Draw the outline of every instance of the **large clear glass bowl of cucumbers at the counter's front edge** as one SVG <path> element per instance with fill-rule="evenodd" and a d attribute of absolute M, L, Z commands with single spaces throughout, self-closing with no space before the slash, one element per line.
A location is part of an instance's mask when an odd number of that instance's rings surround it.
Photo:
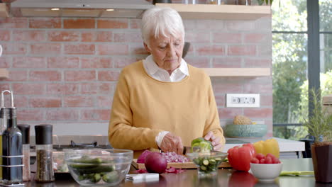
<path fill-rule="evenodd" d="M 127 149 L 77 149 L 65 151 L 72 178 L 82 186 L 116 186 L 128 174 L 133 151 Z"/>

